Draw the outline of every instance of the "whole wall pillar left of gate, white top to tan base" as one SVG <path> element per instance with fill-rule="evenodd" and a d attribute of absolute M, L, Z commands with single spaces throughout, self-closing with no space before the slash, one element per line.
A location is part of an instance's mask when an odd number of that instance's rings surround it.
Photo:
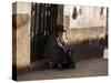
<path fill-rule="evenodd" d="M 16 9 L 17 8 L 17 9 Z M 30 14 L 31 14 L 31 3 L 29 2 L 17 2 L 13 3 L 12 8 L 13 18 L 13 32 L 17 45 L 17 66 L 22 68 L 30 64 Z M 14 11 L 16 10 L 16 11 Z"/>

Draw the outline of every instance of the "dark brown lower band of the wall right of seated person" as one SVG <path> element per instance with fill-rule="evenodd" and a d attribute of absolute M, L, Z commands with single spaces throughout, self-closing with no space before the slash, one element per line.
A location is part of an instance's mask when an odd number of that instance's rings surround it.
<path fill-rule="evenodd" d="M 75 60 L 84 60 L 92 58 L 103 58 L 104 49 L 108 48 L 108 38 L 83 40 L 77 43 L 70 43 L 74 50 Z"/>

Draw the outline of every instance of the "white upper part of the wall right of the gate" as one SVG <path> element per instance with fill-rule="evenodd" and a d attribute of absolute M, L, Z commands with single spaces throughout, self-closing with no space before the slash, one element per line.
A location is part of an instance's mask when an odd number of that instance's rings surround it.
<path fill-rule="evenodd" d="M 78 17 L 72 19 L 73 7 L 77 8 Z M 81 12 L 80 12 L 81 9 Z M 107 8 L 103 9 L 103 14 L 100 15 L 101 7 L 84 7 L 84 6 L 64 6 L 63 14 L 69 15 L 69 28 L 90 28 L 107 25 Z M 65 25 L 65 20 L 64 25 Z"/>

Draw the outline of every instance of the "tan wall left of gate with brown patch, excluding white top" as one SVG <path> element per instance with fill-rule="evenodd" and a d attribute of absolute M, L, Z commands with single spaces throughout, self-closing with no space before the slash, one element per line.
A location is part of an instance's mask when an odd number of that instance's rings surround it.
<path fill-rule="evenodd" d="M 17 45 L 17 66 L 26 66 L 30 64 L 30 31 L 29 31 L 29 14 L 17 13 L 17 29 L 13 27 L 16 33 L 14 43 Z"/>

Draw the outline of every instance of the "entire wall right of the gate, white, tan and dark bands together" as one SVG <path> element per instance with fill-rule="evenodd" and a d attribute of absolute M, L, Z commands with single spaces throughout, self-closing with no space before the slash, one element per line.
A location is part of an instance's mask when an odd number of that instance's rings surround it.
<path fill-rule="evenodd" d="M 75 19 L 72 18 L 77 8 Z M 107 8 L 85 6 L 64 6 L 64 40 L 71 45 L 77 60 L 103 56 L 108 34 Z"/>

